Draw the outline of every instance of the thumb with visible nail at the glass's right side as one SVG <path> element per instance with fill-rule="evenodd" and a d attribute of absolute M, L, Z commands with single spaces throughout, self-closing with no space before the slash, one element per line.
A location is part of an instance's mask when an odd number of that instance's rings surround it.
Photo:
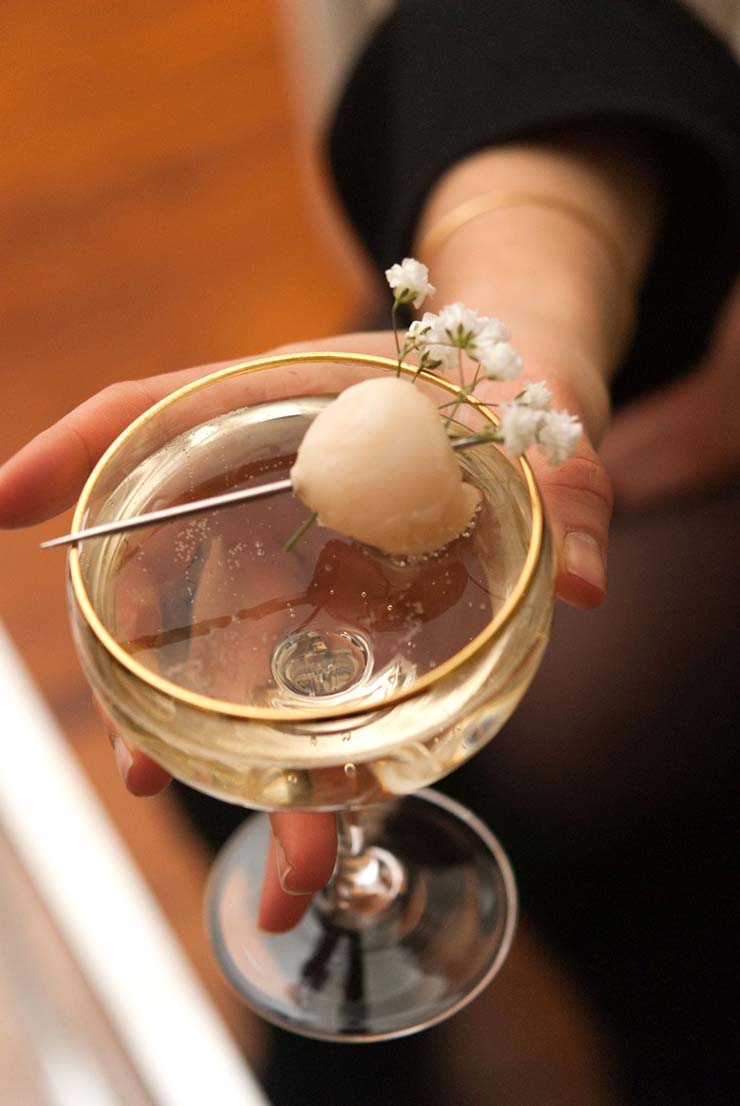
<path fill-rule="evenodd" d="M 584 437 L 567 461 L 552 468 L 531 459 L 555 553 L 555 594 L 575 607 L 596 607 L 606 594 L 612 484 Z"/>

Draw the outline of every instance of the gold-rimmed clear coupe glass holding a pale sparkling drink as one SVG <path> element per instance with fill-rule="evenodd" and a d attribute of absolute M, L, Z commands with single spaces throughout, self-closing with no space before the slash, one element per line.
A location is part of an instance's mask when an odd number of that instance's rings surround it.
<path fill-rule="evenodd" d="M 338 392 L 396 371 L 381 357 L 312 353 L 196 380 L 111 446 L 74 526 L 284 478 Z M 450 406 L 457 389 L 434 375 L 413 386 L 435 398 L 451 436 L 496 419 L 472 397 Z M 227 844 L 208 894 L 227 978 L 264 1018 L 309 1036 L 425 1029 L 489 982 L 512 940 L 515 887 L 496 838 L 449 799 L 413 794 L 501 728 L 552 613 L 527 462 L 492 444 L 458 456 L 482 505 L 429 556 L 388 556 L 317 524 L 285 552 L 308 514 L 290 494 L 70 553 L 80 657 L 127 741 L 228 802 L 337 812 L 334 876 L 290 932 L 257 926 L 264 814 Z"/>

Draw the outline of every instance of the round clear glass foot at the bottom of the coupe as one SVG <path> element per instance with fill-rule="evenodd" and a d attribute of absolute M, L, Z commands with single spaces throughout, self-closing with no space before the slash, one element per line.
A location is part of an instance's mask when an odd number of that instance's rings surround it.
<path fill-rule="evenodd" d="M 330 885 L 290 932 L 258 930 L 267 815 L 248 818 L 211 876 L 208 926 L 227 979 L 261 1016 L 304 1036 L 369 1042 L 427 1029 L 486 987 L 513 937 L 511 867 L 463 806 L 424 791 L 362 818 L 393 886 L 379 910 L 347 907 Z"/>

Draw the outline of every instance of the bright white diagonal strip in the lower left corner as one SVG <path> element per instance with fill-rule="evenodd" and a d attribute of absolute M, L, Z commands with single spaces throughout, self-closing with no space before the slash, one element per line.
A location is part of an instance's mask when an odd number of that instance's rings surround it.
<path fill-rule="evenodd" d="M 0 818 L 154 1102 L 268 1106 L 1 625 L 0 703 Z"/>

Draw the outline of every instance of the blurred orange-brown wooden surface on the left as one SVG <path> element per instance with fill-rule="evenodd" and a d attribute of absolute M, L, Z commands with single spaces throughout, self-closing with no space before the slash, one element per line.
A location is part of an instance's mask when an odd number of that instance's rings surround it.
<path fill-rule="evenodd" d="M 271 0 L 6 0 L 0 33 L 3 458 L 114 380 L 354 325 L 303 186 Z M 0 536 L 0 617 L 257 1057 L 205 946 L 207 859 L 166 796 L 126 794 L 91 710 L 64 554 L 38 549 L 67 522 Z"/>

